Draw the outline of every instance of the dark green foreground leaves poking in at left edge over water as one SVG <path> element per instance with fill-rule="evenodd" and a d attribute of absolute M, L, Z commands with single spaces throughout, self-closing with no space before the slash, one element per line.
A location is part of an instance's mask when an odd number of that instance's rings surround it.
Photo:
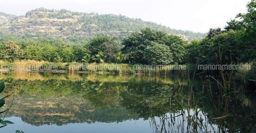
<path fill-rule="evenodd" d="M 0 94 L 3 92 L 4 90 L 4 82 L 0 82 Z M 5 104 L 5 100 L 4 98 L 7 98 L 9 97 L 10 95 L 8 96 L 5 96 L 3 98 L 0 99 L 0 108 L 3 107 L 3 105 Z M 0 114 L 3 114 L 4 112 L 8 111 L 9 109 L 7 110 L 4 110 L 4 111 L 0 111 Z M 7 126 L 7 124 L 14 124 L 13 122 L 10 122 L 10 121 L 4 121 L 4 119 L 0 118 L 0 128 L 3 128 L 5 126 Z"/>

